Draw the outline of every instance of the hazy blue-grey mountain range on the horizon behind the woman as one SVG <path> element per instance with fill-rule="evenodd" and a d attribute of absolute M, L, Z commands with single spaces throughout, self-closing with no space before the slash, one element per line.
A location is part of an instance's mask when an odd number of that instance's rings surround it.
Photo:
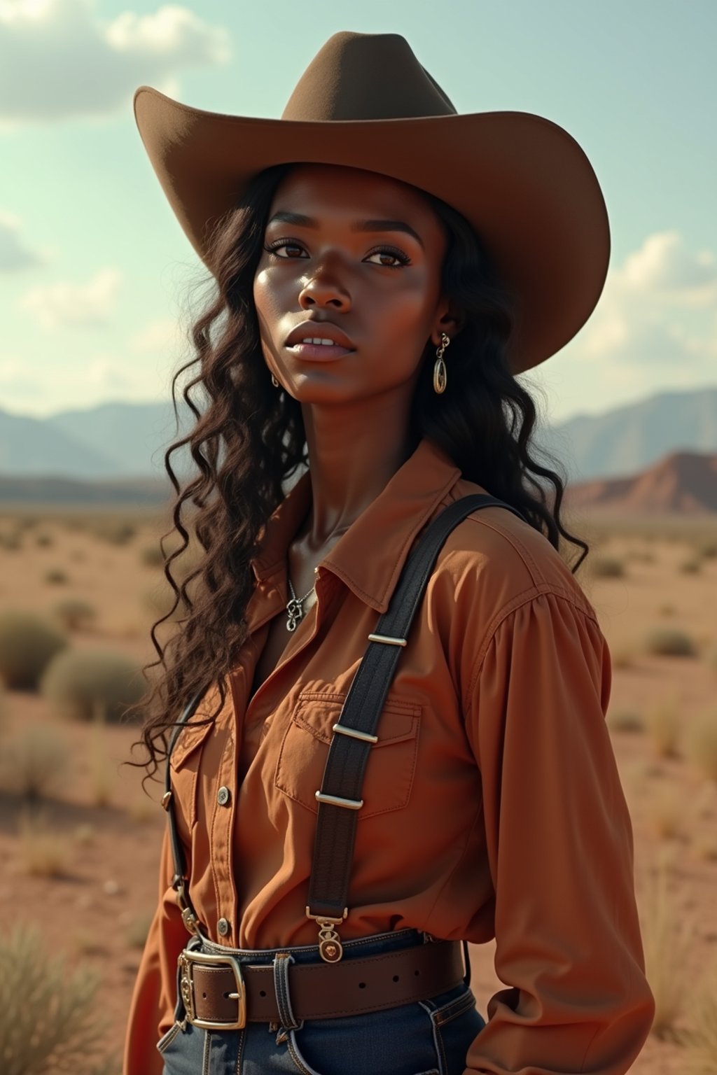
<path fill-rule="evenodd" d="M 190 427 L 186 411 L 181 421 Z M 104 403 L 42 419 L 0 411 L 0 475 L 163 481 L 174 430 L 171 403 Z M 717 453 L 717 387 L 576 415 L 540 428 L 535 443 L 558 458 L 571 483 L 629 477 L 674 453 Z M 177 456 L 181 471 L 188 456 Z"/>

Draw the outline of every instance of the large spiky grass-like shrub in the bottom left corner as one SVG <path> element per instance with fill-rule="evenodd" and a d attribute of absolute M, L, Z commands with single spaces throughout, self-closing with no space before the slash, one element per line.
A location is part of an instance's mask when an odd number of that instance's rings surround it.
<path fill-rule="evenodd" d="M 95 1007 L 96 973 L 69 971 L 37 927 L 8 921 L 0 933 L 2 1075 L 114 1075 L 107 1020 Z"/>

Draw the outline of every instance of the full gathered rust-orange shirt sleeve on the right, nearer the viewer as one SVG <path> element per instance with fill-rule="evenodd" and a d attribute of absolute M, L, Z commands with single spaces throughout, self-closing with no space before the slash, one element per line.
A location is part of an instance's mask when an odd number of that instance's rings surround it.
<path fill-rule="evenodd" d="M 545 592 L 513 608 L 472 659 L 467 730 L 507 988 L 488 1001 L 465 1075 L 625 1075 L 655 1001 L 604 720 L 607 643 L 570 598 Z"/>

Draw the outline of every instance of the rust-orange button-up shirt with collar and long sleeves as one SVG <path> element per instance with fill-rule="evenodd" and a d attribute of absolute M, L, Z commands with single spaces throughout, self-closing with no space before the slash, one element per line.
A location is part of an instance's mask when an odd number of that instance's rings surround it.
<path fill-rule="evenodd" d="M 213 726 L 181 733 L 171 762 L 190 897 L 218 944 L 316 944 L 304 908 L 331 727 L 416 538 L 451 501 L 485 491 L 424 439 L 324 558 L 316 602 L 249 698 L 269 621 L 286 615 L 286 553 L 311 504 L 309 473 L 268 520 L 227 702 Z M 478 999 L 488 1022 L 469 1075 L 622 1075 L 647 1037 L 654 998 L 610 691 L 596 613 L 546 538 L 498 506 L 461 521 L 381 716 L 341 934 L 496 938 L 505 989 Z M 189 936 L 172 874 L 166 836 L 125 1075 L 161 1075 L 155 1043 L 173 1021 Z"/>

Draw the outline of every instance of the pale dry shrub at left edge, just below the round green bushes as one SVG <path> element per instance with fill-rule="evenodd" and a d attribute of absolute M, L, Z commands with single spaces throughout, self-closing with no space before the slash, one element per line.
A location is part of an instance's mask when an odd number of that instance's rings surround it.
<path fill-rule="evenodd" d="M 53 728 L 21 728 L 3 743 L 0 785 L 25 799 L 60 790 L 70 770 L 70 749 Z"/>

